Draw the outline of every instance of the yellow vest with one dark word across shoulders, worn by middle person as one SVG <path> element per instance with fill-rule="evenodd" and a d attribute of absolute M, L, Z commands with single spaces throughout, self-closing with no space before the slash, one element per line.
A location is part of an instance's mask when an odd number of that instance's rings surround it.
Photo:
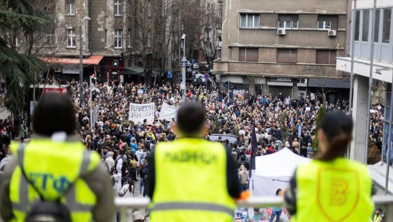
<path fill-rule="evenodd" d="M 151 221 L 232 222 L 235 201 L 227 189 L 222 144 L 198 138 L 159 143 Z"/>

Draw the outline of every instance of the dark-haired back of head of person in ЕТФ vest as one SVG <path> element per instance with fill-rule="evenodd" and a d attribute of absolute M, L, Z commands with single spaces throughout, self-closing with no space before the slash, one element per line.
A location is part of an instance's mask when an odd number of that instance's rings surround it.
<path fill-rule="evenodd" d="M 71 135 L 76 129 L 75 108 L 66 94 L 44 93 L 33 112 L 33 130 L 38 135 L 55 132 Z"/>

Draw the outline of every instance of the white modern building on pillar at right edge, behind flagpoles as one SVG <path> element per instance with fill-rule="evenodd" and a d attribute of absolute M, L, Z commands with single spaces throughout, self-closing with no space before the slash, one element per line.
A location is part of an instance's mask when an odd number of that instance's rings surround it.
<path fill-rule="evenodd" d="M 384 125 L 382 142 L 382 161 L 387 160 L 388 125 L 391 117 L 390 95 L 393 77 L 393 2 L 389 0 L 378 0 L 373 13 L 372 0 L 357 0 L 356 13 L 353 13 L 354 2 L 352 2 L 352 21 L 355 21 L 354 32 L 351 31 L 351 50 L 354 47 L 354 94 L 353 94 L 353 117 L 355 118 L 355 139 L 351 144 L 351 157 L 362 161 L 365 156 L 364 138 L 367 137 L 366 122 L 368 85 L 370 71 L 373 86 L 384 85 L 385 96 L 381 96 L 378 90 L 372 91 L 372 101 L 380 100 L 384 104 Z M 374 21 L 374 24 L 373 24 Z M 353 25 L 353 23 L 352 23 Z M 351 25 L 351 30 L 352 29 Z M 372 36 L 374 34 L 374 36 Z M 374 37 L 374 40 L 372 40 Z M 373 46 L 373 64 L 371 67 L 371 46 Z M 352 56 L 352 54 L 351 54 Z M 351 73 L 351 57 L 337 58 L 337 70 Z M 372 70 L 370 70 L 372 68 Z M 380 88 L 380 87 L 379 87 Z M 375 89 L 378 89 L 375 87 Z M 374 107 L 371 107 L 374 108 Z M 355 149 L 356 147 L 356 149 Z M 390 165 L 393 162 L 393 152 L 390 152 Z M 376 176 L 375 176 L 376 177 Z M 378 181 L 378 178 L 373 178 Z M 379 180 L 380 181 L 380 180 Z M 384 182 L 384 179 L 382 179 Z M 382 187 L 384 184 L 380 184 Z M 389 187 L 389 192 L 393 188 Z"/>

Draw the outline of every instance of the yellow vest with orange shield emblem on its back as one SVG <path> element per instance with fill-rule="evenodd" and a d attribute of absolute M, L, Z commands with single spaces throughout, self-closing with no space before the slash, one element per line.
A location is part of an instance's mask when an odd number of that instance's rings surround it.
<path fill-rule="evenodd" d="M 372 181 L 358 162 L 312 160 L 296 171 L 296 215 L 292 221 L 369 221 Z"/>

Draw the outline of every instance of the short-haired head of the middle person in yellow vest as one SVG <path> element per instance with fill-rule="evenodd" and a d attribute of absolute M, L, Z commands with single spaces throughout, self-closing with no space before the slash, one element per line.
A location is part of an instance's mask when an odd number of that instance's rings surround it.
<path fill-rule="evenodd" d="M 176 133 L 182 137 L 203 137 L 206 134 L 206 113 L 201 104 L 186 102 L 177 111 Z"/>

